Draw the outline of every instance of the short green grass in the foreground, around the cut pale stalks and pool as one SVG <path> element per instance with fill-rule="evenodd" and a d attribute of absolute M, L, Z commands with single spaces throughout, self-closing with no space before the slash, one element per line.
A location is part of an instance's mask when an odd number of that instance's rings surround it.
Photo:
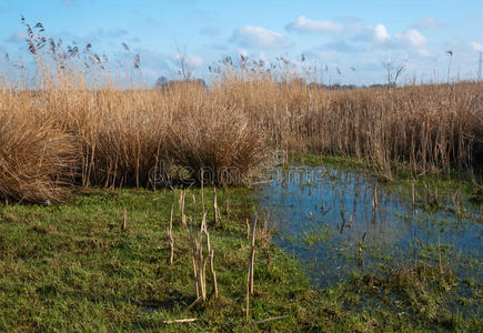
<path fill-rule="evenodd" d="M 207 189 L 207 206 L 212 202 L 211 193 Z M 198 212 L 201 210 L 200 190 L 189 191 L 189 221 L 191 194 L 197 195 Z M 462 283 L 452 278 L 451 271 L 440 274 L 449 276 L 449 287 L 433 283 L 430 278 L 439 275 L 426 266 L 424 272 L 404 269 L 404 279 L 399 271 L 386 271 L 354 275 L 349 282 L 316 290 L 298 261 L 266 240 L 256 242 L 255 293 L 246 322 L 250 245 L 245 219 L 254 205 L 250 190 L 219 191 L 222 222 L 213 225 L 210 210 L 208 229 L 215 250 L 220 297 L 188 310 L 195 292 L 189 233 L 180 224 L 178 195 L 179 191 L 85 190 L 66 204 L 0 205 L 0 331 L 378 332 L 481 327 L 477 315 L 463 319 L 450 311 L 445 297 L 455 290 L 454 284 Z M 224 212 L 228 195 L 229 218 Z M 174 263 L 169 265 L 164 228 L 172 203 Z M 124 208 L 128 223 L 127 231 L 121 232 Z M 466 284 L 472 285 L 473 293 L 462 302 L 481 306 L 481 285 L 475 281 Z M 289 317 L 256 323 L 280 315 Z M 185 317 L 200 320 L 163 324 Z"/>

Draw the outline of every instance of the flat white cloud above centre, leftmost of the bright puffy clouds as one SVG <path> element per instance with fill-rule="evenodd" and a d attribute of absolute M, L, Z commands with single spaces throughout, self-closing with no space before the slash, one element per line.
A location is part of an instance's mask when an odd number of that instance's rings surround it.
<path fill-rule="evenodd" d="M 237 29 L 233 31 L 230 41 L 243 48 L 283 49 L 292 46 L 292 42 L 285 36 L 253 26 Z"/>

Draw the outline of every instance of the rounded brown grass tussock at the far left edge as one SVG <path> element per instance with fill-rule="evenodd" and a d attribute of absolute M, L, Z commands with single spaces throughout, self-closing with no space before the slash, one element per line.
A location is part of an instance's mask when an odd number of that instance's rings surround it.
<path fill-rule="evenodd" d="M 21 99 L 11 95 L 16 103 Z M 29 110 L 8 109 L 4 94 L 0 100 L 0 198 L 61 200 L 78 167 L 74 138 Z"/>

